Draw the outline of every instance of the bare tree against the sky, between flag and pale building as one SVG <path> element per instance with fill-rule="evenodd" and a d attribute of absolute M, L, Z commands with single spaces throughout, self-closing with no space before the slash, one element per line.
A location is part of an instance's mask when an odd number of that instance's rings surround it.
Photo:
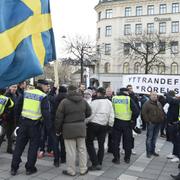
<path fill-rule="evenodd" d="M 75 38 L 66 40 L 66 51 L 69 55 L 67 61 L 64 63 L 70 63 L 74 65 L 80 65 L 81 67 L 81 83 L 84 83 L 83 72 L 84 66 L 90 66 L 92 56 L 94 54 L 95 46 L 89 38 L 82 36 L 76 36 Z"/>

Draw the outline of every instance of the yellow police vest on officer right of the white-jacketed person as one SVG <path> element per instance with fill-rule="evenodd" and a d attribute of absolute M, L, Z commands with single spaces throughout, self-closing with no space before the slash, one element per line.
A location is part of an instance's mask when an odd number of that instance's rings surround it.
<path fill-rule="evenodd" d="M 132 111 L 130 108 L 130 97 L 129 96 L 114 96 L 112 98 L 112 104 L 115 112 L 115 118 L 130 121 L 132 116 Z"/>

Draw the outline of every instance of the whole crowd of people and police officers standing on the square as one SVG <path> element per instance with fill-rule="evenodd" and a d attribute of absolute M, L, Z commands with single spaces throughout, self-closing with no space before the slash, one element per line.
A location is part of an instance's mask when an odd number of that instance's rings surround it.
<path fill-rule="evenodd" d="M 45 155 L 54 157 L 55 167 L 66 163 L 63 174 L 68 176 L 77 173 L 77 157 L 80 175 L 101 170 L 106 137 L 112 163 L 120 164 L 120 147 L 124 161 L 130 163 L 135 153 L 133 134 L 145 130 L 147 158 L 159 156 L 156 141 L 160 132 L 162 138 L 172 142 L 167 158 L 172 162 L 180 159 L 180 98 L 174 91 L 159 96 L 156 92 L 135 94 L 131 85 L 114 93 L 111 87 L 85 89 L 84 84 L 57 89 L 44 79 L 35 87 L 21 82 L 0 89 L 0 125 L 0 146 L 7 141 L 7 153 L 13 155 L 11 175 L 17 174 L 28 143 L 27 175 L 37 172 L 37 158 Z M 171 176 L 180 180 L 180 174 Z"/>

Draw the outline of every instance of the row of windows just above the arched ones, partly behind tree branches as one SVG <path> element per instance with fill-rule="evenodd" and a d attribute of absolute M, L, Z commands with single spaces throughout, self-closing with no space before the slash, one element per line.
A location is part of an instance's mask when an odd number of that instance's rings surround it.
<path fill-rule="evenodd" d="M 166 53 L 166 42 L 160 42 L 159 43 L 159 54 L 165 54 Z M 147 43 L 148 51 L 149 53 L 153 53 L 153 48 L 154 44 L 152 42 Z M 135 43 L 135 48 L 140 49 L 142 48 L 141 43 Z M 157 47 L 156 47 L 157 48 Z M 100 46 L 97 45 L 97 53 L 100 51 Z M 124 55 L 128 55 L 131 53 L 131 45 L 129 43 L 124 43 Z M 178 41 L 171 41 L 170 42 L 170 51 L 171 54 L 178 54 L 179 53 L 179 42 Z M 136 52 L 135 52 L 136 53 Z M 105 50 L 104 50 L 105 55 L 111 55 L 111 43 L 106 43 L 105 44 Z"/>

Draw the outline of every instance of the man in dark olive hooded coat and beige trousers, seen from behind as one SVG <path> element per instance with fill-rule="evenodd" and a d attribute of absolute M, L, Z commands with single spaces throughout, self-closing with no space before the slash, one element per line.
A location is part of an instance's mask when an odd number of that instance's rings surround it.
<path fill-rule="evenodd" d="M 63 174 L 76 175 L 76 149 L 80 159 L 80 174 L 84 175 L 87 169 L 87 151 L 85 144 L 85 118 L 91 115 L 91 108 L 77 92 L 75 86 L 69 86 L 68 96 L 59 105 L 56 112 L 55 128 L 57 135 L 63 134 L 66 148 L 67 170 Z"/>

